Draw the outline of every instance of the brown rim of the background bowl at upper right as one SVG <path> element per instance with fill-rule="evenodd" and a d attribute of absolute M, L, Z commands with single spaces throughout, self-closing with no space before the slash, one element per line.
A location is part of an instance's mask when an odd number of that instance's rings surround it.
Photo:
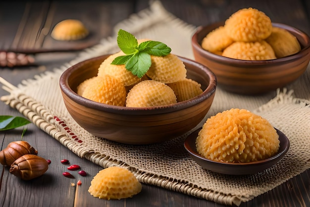
<path fill-rule="evenodd" d="M 216 55 L 214 53 L 208 52 L 207 50 L 203 49 L 201 46 L 201 43 L 198 41 L 198 35 L 199 33 L 205 29 L 206 27 L 210 27 L 214 29 L 218 26 L 223 26 L 225 21 L 220 21 L 220 22 L 215 22 L 212 24 L 204 25 L 204 26 L 199 26 L 194 34 L 192 35 L 192 46 L 193 49 L 197 50 L 200 54 L 205 54 L 205 56 L 208 56 L 211 58 L 213 61 L 218 62 L 218 63 L 224 63 L 227 65 L 252 65 L 252 66 L 263 66 L 263 65 L 270 65 L 270 64 L 283 64 L 284 62 L 289 62 L 294 59 L 299 59 L 301 57 L 304 57 L 305 55 L 310 54 L 310 37 L 309 35 L 302 31 L 299 30 L 293 26 L 289 26 L 287 24 L 283 23 L 277 23 L 277 22 L 272 22 L 272 26 L 274 27 L 280 27 L 283 29 L 286 29 L 288 31 L 293 31 L 294 33 L 298 33 L 300 36 L 303 37 L 303 39 L 306 40 L 306 45 L 299 51 L 298 53 L 292 54 L 290 56 L 286 56 L 283 58 L 277 58 L 277 59 L 272 59 L 272 60 L 264 60 L 264 61 L 249 61 L 249 60 L 238 60 L 238 59 L 233 59 L 233 58 L 228 58 L 220 55 Z"/>

